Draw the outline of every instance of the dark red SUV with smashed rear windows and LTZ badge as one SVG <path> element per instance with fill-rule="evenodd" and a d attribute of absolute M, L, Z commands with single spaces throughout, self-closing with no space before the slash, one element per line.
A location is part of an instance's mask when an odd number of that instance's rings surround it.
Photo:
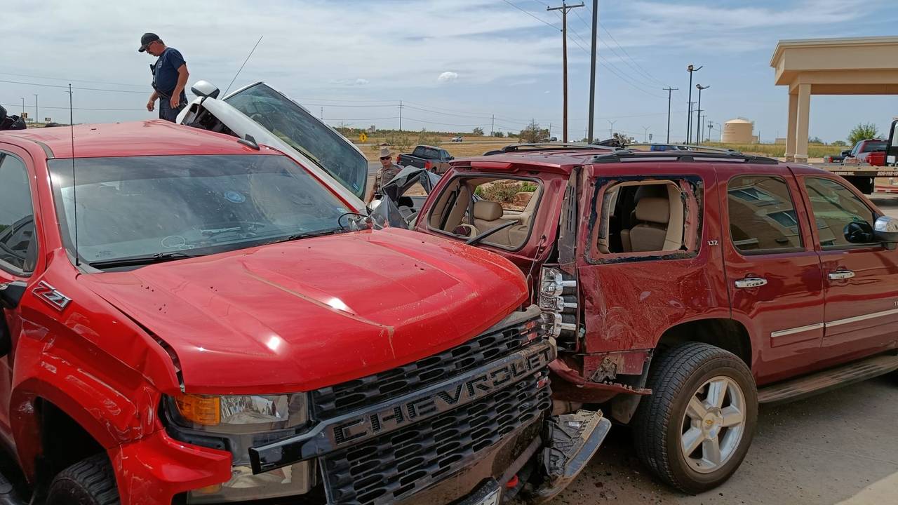
<path fill-rule="evenodd" d="M 684 492 L 735 472 L 759 403 L 898 369 L 898 220 L 823 170 L 509 146 L 453 162 L 416 223 L 527 274 L 555 399 L 605 404 Z"/>

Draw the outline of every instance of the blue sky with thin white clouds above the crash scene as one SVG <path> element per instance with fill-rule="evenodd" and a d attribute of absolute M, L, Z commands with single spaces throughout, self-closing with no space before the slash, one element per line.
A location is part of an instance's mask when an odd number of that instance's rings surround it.
<path fill-rule="evenodd" d="M 592 1 L 568 14 L 569 137 L 585 137 Z M 562 64 L 554 0 L 3 0 L 0 103 L 68 122 L 145 120 L 153 31 L 187 60 L 193 83 L 231 89 L 265 81 L 334 126 L 517 131 L 531 120 L 561 137 Z M 719 124 L 745 118 L 762 141 L 785 137 L 788 95 L 773 84 L 778 40 L 894 35 L 888 0 L 599 2 L 595 137 L 611 128 L 685 137 L 689 74 Z M 12 29 L 14 27 L 14 29 Z M 695 90 L 693 89 L 693 92 Z M 38 96 L 35 97 L 34 95 Z M 697 99 L 693 93 L 692 100 Z M 495 120 L 493 120 L 495 116 Z M 860 122 L 885 131 L 896 96 L 813 96 L 810 136 L 848 137 Z M 613 121 L 613 125 L 612 125 Z M 495 124 L 495 127 L 494 127 Z M 694 127 L 693 127 L 694 128 Z M 704 128 L 707 135 L 708 128 Z M 694 133 L 693 133 L 694 136 Z"/>

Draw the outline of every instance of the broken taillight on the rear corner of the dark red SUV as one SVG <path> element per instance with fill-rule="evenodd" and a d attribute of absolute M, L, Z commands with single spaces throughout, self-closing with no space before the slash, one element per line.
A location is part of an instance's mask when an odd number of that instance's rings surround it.
<path fill-rule="evenodd" d="M 554 267 L 543 267 L 540 308 L 550 335 L 556 339 L 577 337 L 577 279 L 574 276 Z"/>

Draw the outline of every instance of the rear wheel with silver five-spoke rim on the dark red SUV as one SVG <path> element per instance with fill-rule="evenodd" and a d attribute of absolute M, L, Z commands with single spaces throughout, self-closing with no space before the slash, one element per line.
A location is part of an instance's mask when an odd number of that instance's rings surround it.
<path fill-rule="evenodd" d="M 758 391 L 742 359 L 687 342 L 656 357 L 633 423 L 639 460 L 682 492 L 708 491 L 734 474 L 752 444 Z"/>

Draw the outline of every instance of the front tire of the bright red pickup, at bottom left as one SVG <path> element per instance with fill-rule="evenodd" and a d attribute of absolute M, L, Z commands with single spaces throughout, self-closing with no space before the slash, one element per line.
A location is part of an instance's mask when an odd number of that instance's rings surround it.
<path fill-rule="evenodd" d="M 50 483 L 45 505 L 119 505 L 119 487 L 105 454 L 88 457 Z"/>

